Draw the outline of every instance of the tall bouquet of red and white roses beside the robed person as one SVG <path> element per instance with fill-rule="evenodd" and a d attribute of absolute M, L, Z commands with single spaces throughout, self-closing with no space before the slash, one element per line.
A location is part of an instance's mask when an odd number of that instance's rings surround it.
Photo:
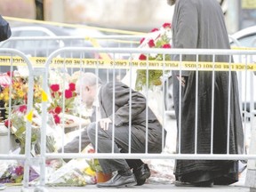
<path fill-rule="evenodd" d="M 153 28 L 147 37 L 140 40 L 140 48 L 163 48 L 170 49 L 172 38 L 172 25 L 171 23 L 164 23 L 161 28 Z M 139 60 L 171 60 L 171 56 L 160 53 L 140 54 Z M 148 87 L 151 88 L 154 85 L 161 85 L 163 76 L 163 70 L 148 70 Z M 142 90 L 142 87 L 147 84 L 147 70 L 139 69 L 137 71 L 137 79 L 135 89 Z"/>

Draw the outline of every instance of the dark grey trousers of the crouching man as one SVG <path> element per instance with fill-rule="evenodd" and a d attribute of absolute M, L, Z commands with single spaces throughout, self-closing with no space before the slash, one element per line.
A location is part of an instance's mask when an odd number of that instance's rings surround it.
<path fill-rule="evenodd" d="M 98 130 L 98 142 L 96 145 L 96 130 Z M 113 130 L 115 140 L 113 142 Z M 109 124 L 108 131 L 96 126 L 96 123 L 89 124 L 87 127 L 88 136 L 92 142 L 92 146 L 97 146 L 99 153 L 128 153 L 129 152 L 129 127 L 120 126 L 113 129 L 112 124 Z M 145 146 L 140 142 L 136 135 L 131 132 L 131 152 L 144 152 Z M 127 170 L 130 168 L 137 169 L 143 162 L 140 159 L 99 159 L 103 172 L 116 172 L 119 170 Z"/>

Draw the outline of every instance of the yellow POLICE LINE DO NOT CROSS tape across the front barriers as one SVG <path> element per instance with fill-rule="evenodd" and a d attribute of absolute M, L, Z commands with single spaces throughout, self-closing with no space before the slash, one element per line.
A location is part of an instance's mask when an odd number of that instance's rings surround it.
<path fill-rule="evenodd" d="M 44 68 L 46 58 L 28 58 L 33 67 Z M 0 66 L 27 66 L 20 57 L 0 56 Z M 252 63 L 227 63 L 227 62 L 195 62 L 172 60 L 102 60 L 80 58 L 53 58 L 50 68 L 139 68 L 160 70 L 204 70 L 204 71 L 256 71 L 256 62 Z"/>

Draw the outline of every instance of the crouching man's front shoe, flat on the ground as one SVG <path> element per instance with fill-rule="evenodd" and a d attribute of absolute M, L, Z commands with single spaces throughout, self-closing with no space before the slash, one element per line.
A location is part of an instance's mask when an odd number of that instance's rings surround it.
<path fill-rule="evenodd" d="M 132 185 L 136 185 L 137 182 L 132 175 L 126 176 L 116 173 L 114 177 L 111 178 L 111 180 L 108 180 L 107 182 L 97 183 L 98 188 L 121 188 L 121 187 L 129 187 Z"/>

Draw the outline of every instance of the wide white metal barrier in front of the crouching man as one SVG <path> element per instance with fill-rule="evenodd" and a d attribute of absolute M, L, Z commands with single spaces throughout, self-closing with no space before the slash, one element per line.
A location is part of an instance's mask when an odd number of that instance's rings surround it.
<path fill-rule="evenodd" d="M 70 54 L 70 52 L 72 53 L 76 53 L 76 55 L 78 54 L 79 57 L 77 58 L 69 58 L 68 55 Z M 91 59 L 91 58 L 86 58 L 84 57 L 84 52 L 85 53 L 107 53 L 107 54 L 111 54 L 112 55 L 112 59 L 109 60 L 102 60 L 100 57 L 96 58 L 96 59 Z M 65 57 L 65 54 L 67 53 L 67 57 Z M 128 60 L 120 60 L 119 59 L 119 54 L 128 54 L 129 55 L 129 59 Z M 136 58 L 138 58 L 138 56 L 140 54 L 162 54 L 164 55 L 163 58 L 164 60 L 159 61 L 159 60 L 136 60 Z M 172 61 L 172 60 L 167 60 L 168 56 L 170 55 L 180 55 L 182 56 L 183 54 L 186 55 L 196 55 L 196 58 L 198 58 L 199 55 L 212 55 L 212 57 L 214 58 L 216 55 L 228 55 L 229 58 L 233 57 L 238 57 L 239 60 L 235 60 L 235 63 L 232 63 L 231 60 L 229 63 L 218 63 L 215 62 L 214 59 L 211 63 L 200 63 L 198 61 L 196 62 L 183 62 L 182 60 L 178 60 L 178 61 Z M 61 55 L 61 57 L 60 57 Z M 165 72 L 169 72 L 170 70 L 180 70 L 180 71 L 186 71 L 186 70 L 194 70 L 196 72 L 200 71 L 200 70 L 206 70 L 206 71 L 212 71 L 214 74 L 214 71 L 240 71 L 241 73 L 245 73 L 245 76 L 249 76 L 249 74 L 252 74 L 252 71 L 255 71 L 256 65 L 255 65 L 255 55 L 256 52 L 255 51 L 234 51 L 234 50 L 187 50 L 187 49 L 183 49 L 183 50 L 176 50 L 176 49 L 122 49 L 122 48 L 81 48 L 81 47 L 67 47 L 67 48 L 62 48 L 60 50 L 57 50 L 55 52 L 52 52 L 52 54 L 47 58 L 44 67 L 40 68 L 41 70 L 41 74 L 43 75 L 43 90 L 44 92 L 46 92 L 48 95 L 51 95 L 50 92 L 50 88 L 49 85 L 52 84 L 52 82 L 54 83 L 54 81 L 52 81 L 52 71 L 54 71 L 54 74 L 57 73 L 61 73 L 63 71 L 66 71 L 65 74 L 60 77 L 58 77 L 58 84 L 62 84 L 63 86 L 66 84 L 68 84 L 68 77 L 67 76 L 71 76 L 72 74 L 66 74 L 67 70 L 62 70 L 63 68 L 78 68 L 78 74 L 76 74 L 76 80 L 80 78 L 79 73 L 83 73 L 86 72 L 86 70 L 88 68 L 93 68 L 94 72 L 96 75 L 99 75 L 99 70 L 100 69 L 111 69 L 113 74 L 115 75 L 115 71 L 116 69 L 124 69 L 128 78 L 126 79 L 127 81 L 125 82 L 126 84 L 128 84 L 130 87 L 133 88 L 133 80 L 132 78 L 130 78 L 129 76 L 134 76 L 134 71 L 136 72 L 136 70 L 138 69 L 143 69 L 146 70 L 146 76 L 147 76 L 147 80 L 146 80 L 146 84 L 148 84 L 148 70 L 149 69 L 153 69 L 153 70 L 161 70 L 164 74 Z M 166 60 L 165 60 L 166 58 Z M 180 57 L 181 58 L 181 57 Z M 251 76 L 251 80 L 253 79 L 253 76 Z M 53 76 L 53 80 L 57 80 L 54 79 Z M 73 79 L 74 80 L 74 79 Z M 113 82 L 118 81 L 119 79 L 116 79 L 116 76 L 112 77 Z M 241 79 L 240 79 L 241 81 Z M 56 82 L 55 82 L 56 83 Z M 241 114 L 244 114 L 243 117 L 243 126 L 244 126 L 244 140 L 248 140 L 248 138 L 250 139 L 250 136 L 247 136 L 247 132 L 250 132 L 250 129 L 252 127 L 252 121 L 250 121 L 250 118 L 252 118 L 252 116 L 255 116 L 255 107 L 254 107 L 254 102 L 256 100 L 253 100 L 253 93 L 254 93 L 254 82 L 251 82 L 252 84 L 250 84 L 250 95 L 247 95 L 247 91 L 243 91 L 242 93 L 245 94 L 245 98 L 249 97 L 249 110 L 246 110 L 246 108 L 243 108 L 244 103 L 241 103 Z M 241 82 L 239 82 L 239 84 L 241 84 Z M 240 85 L 244 87 L 245 89 L 247 86 L 248 82 L 247 80 L 245 80 L 245 84 Z M 165 92 L 168 89 L 168 86 L 162 84 L 161 86 L 161 91 Z M 181 86 L 181 84 L 180 84 Z M 147 87 L 147 86 L 146 86 Z M 63 88 L 63 87 L 62 87 Z M 64 90 L 62 90 L 62 93 L 64 93 Z M 143 92 L 145 94 L 145 97 L 147 98 L 147 100 L 149 100 L 149 90 L 148 88 L 146 88 L 146 90 L 144 90 Z M 160 119 L 161 123 L 162 123 L 162 129 L 166 129 L 168 131 L 169 134 L 176 134 L 176 132 L 170 132 L 170 129 L 168 129 L 168 126 L 170 126 L 170 124 L 166 123 L 166 112 L 168 112 L 168 109 L 164 108 L 164 94 L 162 94 L 162 96 L 160 96 L 157 99 L 161 99 L 162 100 L 157 100 L 157 104 L 159 105 L 160 103 Z M 114 99 L 115 100 L 115 99 Z M 230 98 L 229 98 L 230 100 Z M 152 101 L 152 100 L 150 100 Z M 247 154 L 246 153 L 246 148 L 248 148 L 249 146 L 247 142 L 244 142 L 244 152 L 242 154 L 229 154 L 227 152 L 227 154 L 198 154 L 193 153 L 193 154 L 182 154 L 180 153 L 180 151 L 178 151 L 177 153 L 161 153 L 161 154 L 155 154 L 155 153 L 148 153 L 147 151 L 145 153 L 131 153 L 131 146 L 130 146 L 130 152 L 129 153 L 114 153 L 114 149 L 112 146 L 112 153 L 97 153 L 97 145 L 96 145 L 96 153 L 93 154 L 88 154 L 88 153 L 65 153 L 64 150 L 64 145 L 65 145 L 65 126 L 63 126 L 63 130 L 61 132 L 59 132 L 59 136 L 61 138 L 61 142 L 60 142 L 60 148 L 58 148 L 60 150 L 60 153 L 50 153 L 47 152 L 47 143 L 46 143 L 46 136 L 47 136 L 47 122 L 49 120 L 49 113 L 48 113 L 48 107 L 49 107 L 49 103 L 51 102 L 51 100 L 44 100 L 43 104 L 42 104 L 42 130 L 41 130 L 41 149 L 40 149 L 40 159 L 41 159 L 41 172 L 40 172 L 40 184 L 39 184 L 39 189 L 41 188 L 42 190 L 44 189 L 45 185 L 46 185 L 46 168 L 45 168 L 45 161 L 47 159 L 54 159 L 54 158 L 64 158 L 64 159 L 71 159 L 71 158 L 125 158 L 125 159 L 136 159 L 136 158 L 142 158 L 142 159 L 204 159 L 204 160 L 255 160 L 256 159 L 256 155 L 255 154 Z M 153 102 L 156 102 L 153 101 Z M 149 106 L 150 103 L 147 102 L 147 106 Z M 214 103 L 212 102 L 212 105 L 214 105 Z M 65 106 L 65 99 L 62 100 L 62 107 Z M 78 116 L 83 118 L 82 116 L 82 111 L 83 111 L 83 104 L 81 103 L 81 100 L 78 100 L 76 103 L 76 110 L 78 110 Z M 196 108 L 197 110 L 197 108 Z M 159 113 L 156 112 L 156 113 Z M 229 111 L 229 109 L 228 109 Z M 62 108 L 62 112 L 65 115 L 67 111 L 65 111 Z M 77 112 L 77 111 L 76 111 Z M 230 112 L 230 111 L 229 111 Z M 146 118 L 148 114 L 146 115 Z M 180 117 L 181 118 L 181 117 Z M 177 121 L 182 121 L 181 119 L 177 119 Z M 47 121 L 46 121 L 47 120 Z M 131 122 L 131 119 L 129 120 Z M 175 120 L 176 121 L 176 120 Z M 64 120 L 60 120 L 59 122 L 62 125 L 65 125 L 65 121 Z M 130 124 L 130 123 L 129 123 Z M 81 122 L 78 122 L 78 124 L 76 124 L 76 128 L 79 131 L 82 131 L 83 128 L 86 128 L 86 125 L 84 125 Z M 114 128 L 114 127 L 113 127 Z M 130 128 L 131 128 L 131 124 L 130 124 Z M 114 128 L 115 129 L 115 128 Z M 176 129 L 176 127 L 173 128 L 173 130 Z M 178 128 L 180 129 L 180 128 Z M 148 132 L 148 131 L 146 131 Z M 167 133 L 167 134 L 168 134 Z M 77 148 L 79 149 L 79 151 L 81 151 L 82 148 L 82 144 L 81 144 L 81 133 L 78 134 L 79 135 L 79 145 L 77 146 Z M 148 140 L 148 136 L 146 136 Z M 229 135 L 228 135 L 229 137 Z M 172 140 L 173 141 L 173 140 Z M 166 142 L 172 142 L 170 140 L 166 140 Z M 176 140 L 175 140 L 176 141 Z M 175 143 L 174 141 L 174 143 Z M 96 139 L 96 143 L 97 143 L 97 139 Z M 147 143 L 147 141 L 146 141 Z M 228 142 L 227 142 L 228 143 Z M 175 143 L 176 144 L 176 143 Z M 180 145 L 180 142 L 177 143 L 177 145 Z M 228 145 L 228 144 L 227 144 Z M 146 144 L 146 148 L 148 148 L 148 144 Z M 162 148 L 164 151 L 164 143 L 162 143 Z M 228 146 L 227 146 L 228 148 Z"/>

